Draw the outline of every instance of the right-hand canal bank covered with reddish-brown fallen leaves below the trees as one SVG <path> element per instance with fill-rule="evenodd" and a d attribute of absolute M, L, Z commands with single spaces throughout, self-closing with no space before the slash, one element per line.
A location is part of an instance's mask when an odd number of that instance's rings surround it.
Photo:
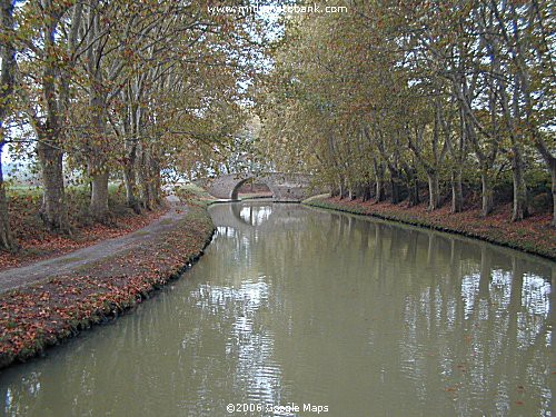
<path fill-rule="evenodd" d="M 425 205 L 407 207 L 389 202 L 363 202 L 327 197 L 312 198 L 305 203 L 455 232 L 556 259 L 556 231 L 550 228 L 549 214 L 537 214 L 524 221 L 512 222 L 508 207 L 498 207 L 492 216 L 480 217 L 479 209 L 451 214 L 448 207 L 427 211 Z"/>

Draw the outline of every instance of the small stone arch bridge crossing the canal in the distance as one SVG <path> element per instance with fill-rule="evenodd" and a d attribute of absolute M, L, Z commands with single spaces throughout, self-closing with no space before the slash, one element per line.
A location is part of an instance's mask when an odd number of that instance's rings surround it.
<path fill-rule="evenodd" d="M 310 176 L 302 173 L 228 173 L 200 179 L 196 183 L 217 198 L 237 200 L 239 188 L 250 179 L 266 183 L 275 201 L 301 201 L 314 195 Z"/>

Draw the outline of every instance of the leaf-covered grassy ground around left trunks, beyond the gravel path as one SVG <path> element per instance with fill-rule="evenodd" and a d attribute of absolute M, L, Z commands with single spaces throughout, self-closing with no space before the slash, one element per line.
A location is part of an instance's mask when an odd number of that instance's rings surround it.
<path fill-rule="evenodd" d="M 127 207 L 122 187 L 109 188 L 109 209 L 111 224 L 93 224 L 89 216 L 90 190 L 86 186 L 68 187 L 67 198 L 70 210 L 72 236 L 50 232 L 39 216 L 42 192 L 37 188 L 16 188 L 8 190 L 10 227 L 20 250 L 17 254 L 0 252 L 0 270 L 13 268 L 30 261 L 63 255 L 76 249 L 95 245 L 100 240 L 129 234 L 150 224 L 166 212 L 161 207 L 155 211 L 137 215 Z"/>

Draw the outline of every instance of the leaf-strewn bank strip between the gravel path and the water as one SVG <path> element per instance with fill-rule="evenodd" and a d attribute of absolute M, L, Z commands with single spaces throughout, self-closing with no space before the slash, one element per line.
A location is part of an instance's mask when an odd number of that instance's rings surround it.
<path fill-rule="evenodd" d="M 108 262 L 91 262 L 80 268 L 75 277 L 49 278 L 1 294 L 0 325 L 4 319 L 7 331 L 0 334 L 0 370 L 40 356 L 46 349 L 92 326 L 118 318 L 180 278 L 199 260 L 212 240 L 216 228 L 208 206 L 188 205 L 187 212 L 171 231 L 155 237 L 139 249 L 132 248 L 110 257 Z M 186 242 L 185 237 L 191 239 Z M 160 258 L 161 252 L 163 259 Z M 146 269 L 155 266 L 157 268 L 152 274 Z M 122 277 L 120 272 L 115 276 L 117 284 L 110 284 L 112 277 L 106 274 L 107 270 L 123 271 L 127 268 L 132 270 L 130 275 Z M 80 289 L 81 284 L 86 284 L 85 290 Z M 101 291 L 91 291 L 95 286 Z M 61 297 L 68 296 L 69 305 L 64 306 L 68 311 L 63 312 L 60 306 L 50 302 L 52 297 L 49 290 L 52 288 L 49 287 L 61 289 L 62 292 L 58 294 Z M 81 294 L 83 296 L 79 297 Z M 18 301 L 21 305 L 16 307 Z M 39 311 L 34 319 L 33 311 Z M 6 314 L 12 314 L 8 320 Z"/>

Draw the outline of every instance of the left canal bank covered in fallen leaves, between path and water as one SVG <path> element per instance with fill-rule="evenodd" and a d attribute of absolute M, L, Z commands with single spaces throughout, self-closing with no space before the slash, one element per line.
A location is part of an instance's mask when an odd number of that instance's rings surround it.
<path fill-rule="evenodd" d="M 99 244 L 105 254 L 90 260 L 77 252 L 62 257 L 51 266 L 51 276 L 0 294 L 0 368 L 37 356 L 149 298 L 202 255 L 214 232 L 206 205 L 177 205 L 156 226 L 137 231 L 135 239 L 117 248 L 111 241 Z M 60 275 L 64 264 L 76 267 Z M 38 274 L 41 268 L 48 270 L 47 265 L 36 265 Z"/>

